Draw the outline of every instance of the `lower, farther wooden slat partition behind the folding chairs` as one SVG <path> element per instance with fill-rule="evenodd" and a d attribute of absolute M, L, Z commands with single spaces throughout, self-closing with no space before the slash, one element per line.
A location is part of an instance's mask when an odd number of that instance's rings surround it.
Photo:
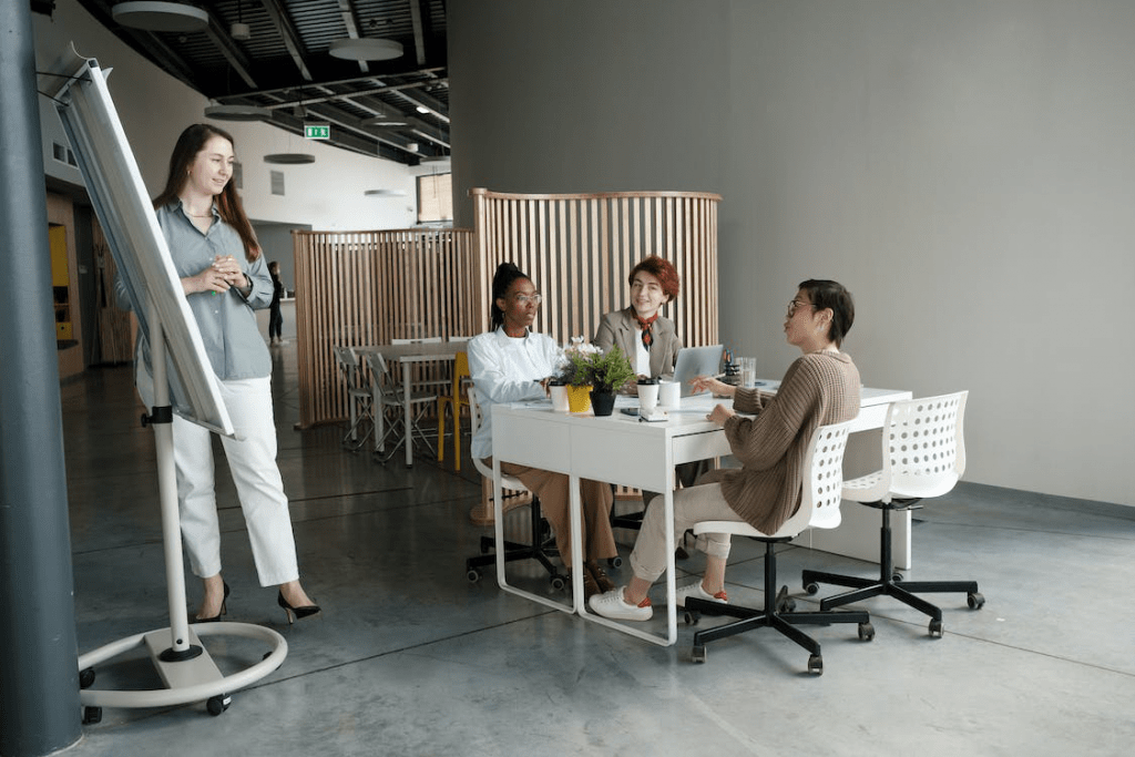
<path fill-rule="evenodd" d="M 301 428 L 348 414 L 334 345 L 478 333 L 472 238 L 469 229 L 293 233 Z"/>

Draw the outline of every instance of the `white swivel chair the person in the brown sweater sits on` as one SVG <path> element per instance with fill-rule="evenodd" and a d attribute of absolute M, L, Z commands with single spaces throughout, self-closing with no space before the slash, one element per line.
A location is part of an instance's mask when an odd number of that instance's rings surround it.
<path fill-rule="evenodd" d="M 852 421 L 821 426 L 812 436 L 808 453 L 804 460 L 804 481 L 800 506 L 775 533 L 763 533 L 743 521 L 703 521 L 693 525 L 695 533 L 732 533 L 747 536 L 765 544 L 765 605 L 757 609 L 739 605 L 724 605 L 708 599 L 687 597 L 686 622 L 697 623 L 698 616 L 726 615 L 738 620 L 693 634 L 692 659 L 706 661 L 705 645 L 708 641 L 737 636 L 758 628 L 772 628 L 797 642 L 812 655 L 808 671 L 824 672 L 824 659 L 819 642 L 796 628 L 799 624 L 858 623 L 859 638 L 866 641 L 875 636 L 871 615 L 866 612 L 824 611 L 810 613 L 792 612 L 793 599 L 788 597 L 788 587 L 776 591 L 776 545 L 799 536 L 809 528 L 832 529 L 840 524 L 840 488 L 843 482 L 843 451 Z"/>

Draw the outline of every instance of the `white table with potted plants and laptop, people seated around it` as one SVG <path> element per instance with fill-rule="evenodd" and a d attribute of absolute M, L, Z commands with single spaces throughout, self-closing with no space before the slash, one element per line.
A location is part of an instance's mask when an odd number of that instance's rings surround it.
<path fill-rule="evenodd" d="M 763 390 L 775 392 L 779 381 L 759 381 Z M 886 406 L 898 399 L 910 398 L 909 392 L 893 389 L 863 389 L 861 410 L 852 427 L 854 432 L 882 428 Z M 669 411 L 664 422 L 641 422 L 625 415 L 621 407 L 637 406 L 637 399 L 620 397 L 614 414 L 596 418 L 587 413 L 558 413 L 549 402 L 498 404 L 493 406 L 493 506 L 495 510 L 497 581 L 511 594 L 568 613 L 579 613 L 585 619 L 614 628 L 662 646 L 678 640 L 678 613 L 674 607 L 674 535 L 666 530 L 666 636 L 657 636 L 590 613 L 583 602 L 583 582 L 572 581 L 571 603 L 564 605 L 547 597 L 510 586 L 504 563 L 504 513 L 502 511 L 501 463 L 531 465 L 570 477 L 571 522 L 580 522 L 579 480 L 594 479 L 662 493 L 667 522 L 674 520 L 674 465 L 679 463 L 723 457 L 731 454 L 724 430 L 708 420 L 706 414 L 717 403 L 729 399 L 709 395 L 684 397 L 681 407 Z M 657 506 L 657 505 L 655 505 Z M 839 529 L 836 529 L 839 530 Z M 900 529 L 896 529 L 897 531 Z M 808 532 L 806 532 L 808 533 Z M 907 530 L 909 533 L 909 529 Z M 869 545 L 858 544 L 872 560 L 877 560 L 877 521 Z M 580 529 L 571 530 L 572 574 L 582 575 L 583 554 Z M 805 542 L 804 546 L 809 546 Z M 815 537 L 813 547 L 825 550 L 843 548 L 839 540 L 823 546 Z"/>

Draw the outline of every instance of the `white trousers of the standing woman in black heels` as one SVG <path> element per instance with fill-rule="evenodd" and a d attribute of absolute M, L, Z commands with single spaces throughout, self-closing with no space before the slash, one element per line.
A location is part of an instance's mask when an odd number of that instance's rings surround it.
<path fill-rule="evenodd" d="M 284 481 L 276 465 L 269 378 L 218 381 L 237 439 L 220 437 L 244 511 L 260 586 L 300 578 Z M 195 575 L 220 572 L 220 525 L 213 486 L 212 432 L 174 415 L 174 462 L 182 537 Z"/>

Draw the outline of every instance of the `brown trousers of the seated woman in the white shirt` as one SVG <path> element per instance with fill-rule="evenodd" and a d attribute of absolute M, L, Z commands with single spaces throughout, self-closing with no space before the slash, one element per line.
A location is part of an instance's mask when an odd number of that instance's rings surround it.
<path fill-rule="evenodd" d="M 487 459 L 485 463 L 491 466 L 493 459 Z M 538 468 L 516 465 L 515 463 L 501 463 L 501 471 L 519 478 L 529 491 L 540 498 L 540 511 L 544 518 L 548 519 L 548 523 L 556 535 L 560 560 L 570 567 L 571 524 L 568 518 L 568 476 Z M 583 544 L 583 557 L 585 560 L 614 557 L 619 552 L 615 547 L 615 536 L 611 532 L 611 505 L 614 502 L 611 485 L 590 479 L 580 479 L 579 485 L 582 501 L 583 529 L 580 537 Z"/>

